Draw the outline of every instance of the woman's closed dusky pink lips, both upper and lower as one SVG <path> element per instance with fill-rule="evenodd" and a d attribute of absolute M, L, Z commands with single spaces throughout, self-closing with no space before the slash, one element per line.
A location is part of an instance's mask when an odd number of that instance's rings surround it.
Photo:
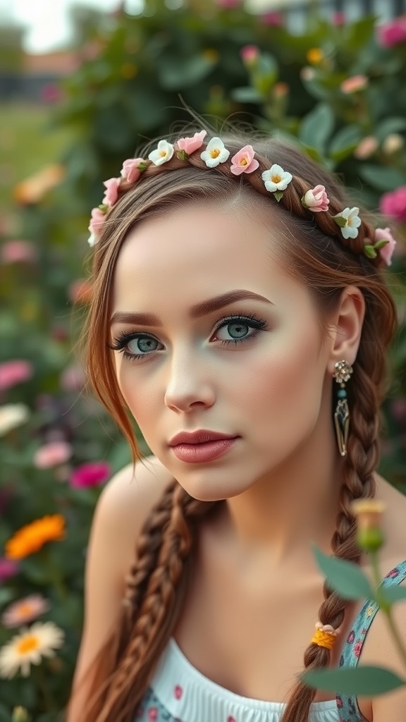
<path fill-rule="evenodd" d="M 204 464 L 223 456 L 236 443 L 238 436 L 215 431 L 181 432 L 170 440 L 170 448 L 179 461 Z"/>

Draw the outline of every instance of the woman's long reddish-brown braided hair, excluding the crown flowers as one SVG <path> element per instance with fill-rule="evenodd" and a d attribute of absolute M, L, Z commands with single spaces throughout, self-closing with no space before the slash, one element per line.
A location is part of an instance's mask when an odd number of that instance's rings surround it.
<path fill-rule="evenodd" d="M 234 134 L 225 142 L 236 153 L 249 140 Z M 379 461 L 379 405 L 385 386 L 386 347 L 396 323 L 394 303 L 386 290 L 379 256 L 367 258 L 363 254 L 364 245 L 373 239 L 371 217 L 362 212 L 357 237 L 343 238 L 332 216 L 342 211 L 346 199 L 334 176 L 289 144 L 268 139 L 255 145 L 259 168 L 254 173 L 233 175 L 230 164 L 225 162 L 217 168 L 207 168 L 199 151 L 186 157 L 173 155 L 163 165 L 147 164 L 137 183 L 120 181 L 118 200 L 105 218 L 94 252 L 92 303 L 86 331 L 88 373 L 99 399 L 128 438 L 135 458 L 132 425 L 108 347 L 113 275 L 126 235 L 142 219 L 183 207 L 188 201 L 262 206 L 270 224 L 277 222 L 280 228 L 277 250 L 285 267 L 306 283 L 322 322 L 327 323 L 327 316 L 348 285 L 357 286 L 365 299 L 362 336 L 349 389 L 351 428 L 347 456 L 342 461 L 340 510 L 331 542 L 334 555 L 358 562 L 360 552 L 355 543 L 350 503 L 374 494 L 373 471 Z M 262 171 L 270 163 L 281 165 L 293 175 L 279 202 L 261 180 Z M 319 183 L 328 193 L 329 212 L 311 212 L 301 202 L 303 193 Z M 131 722 L 176 625 L 199 524 L 219 504 L 194 500 L 173 482 L 152 510 L 126 578 L 115 643 L 110 640 L 105 645 L 92 668 L 92 699 L 83 717 L 87 722 Z M 324 586 L 320 622 L 337 629 L 346 605 L 337 593 Z M 329 650 L 310 643 L 304 652 L 304 668 L 327 666 L 329 658 Z M 314 690 L 297 682 L 282 722 L 307 722 L 314 695 Z"/>

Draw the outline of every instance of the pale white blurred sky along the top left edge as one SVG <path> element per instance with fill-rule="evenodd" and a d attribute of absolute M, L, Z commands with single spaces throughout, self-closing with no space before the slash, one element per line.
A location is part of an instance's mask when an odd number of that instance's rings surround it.
<path fill-rule="evenodd" d="M 249 4 L 271 6 L 280 4 L 280 1 L 251 0 Z M 46 53 L 69 43 L 69 6 L 75 3 L 100 10 L 113 10 L 119 0 L 0 0 L 0 25 L 13 21 L 25 25 L 25 51 Z M 126 0 L 127 12 L 139 12 L 141 8 L 142 0 Z"/>

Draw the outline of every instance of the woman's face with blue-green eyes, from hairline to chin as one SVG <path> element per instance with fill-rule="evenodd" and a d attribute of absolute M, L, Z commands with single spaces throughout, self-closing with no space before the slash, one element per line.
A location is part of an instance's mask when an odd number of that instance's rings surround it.
<path fill-rule="evenodd" d="M 243 209 L 189 204 L 145 220 L 118 258 L 118 385 L 152 453 L 198 499 L 271 476 L 320 419 L 329 344 L 307 288 L 269 252 L 277 242 Z"/>

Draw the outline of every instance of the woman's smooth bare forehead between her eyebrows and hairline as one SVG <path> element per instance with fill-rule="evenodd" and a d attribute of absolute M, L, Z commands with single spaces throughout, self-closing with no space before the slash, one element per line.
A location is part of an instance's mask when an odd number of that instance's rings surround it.
<path fill-rule="evenodd" d="M 165 296 L 165 303 L 178 297 L 192 304 L 236 288 L 291 291 L 298 282 L 277 261 L 280 230 L 269 219 L 208 203 L 145 219 L 118 256 L 113 310 L 156 305 Z"/>

